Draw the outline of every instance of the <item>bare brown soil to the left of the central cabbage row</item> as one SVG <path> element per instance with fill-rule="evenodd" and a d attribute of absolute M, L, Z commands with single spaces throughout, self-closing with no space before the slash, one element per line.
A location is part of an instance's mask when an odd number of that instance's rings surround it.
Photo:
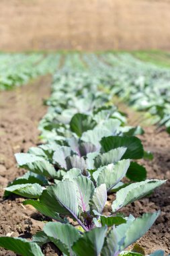
<path fill-rule="evenodd" d="M 38 221 L 42 216 L 35 214 L 31 207 L 25 208 L 22 198 L 13 196 L 3 201 L 2 196 L 9 181 L 24 173 L 17 168 L 13 154 L 27 152 L 38 143 L 38 122 L 46 113 L 42 100 L 50 95 L 50 80 L 50 76 L 46 76 L 28 86 L 0 92 L 0 236 L 30 238 L 30 233 L 43 226 L 43 222 Z M 0 255 L 15 254 L 0 249 Z"/>

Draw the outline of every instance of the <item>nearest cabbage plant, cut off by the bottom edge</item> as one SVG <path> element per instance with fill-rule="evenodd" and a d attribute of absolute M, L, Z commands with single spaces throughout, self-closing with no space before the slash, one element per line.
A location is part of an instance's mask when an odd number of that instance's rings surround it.
<path fill-rule="evenodd" d="M 40 247 L 48 242 L 54 243 L 62 255 L 77 256 L 142 256 L 133 251 L 124 251 L 142 236 L 159 216 L 144 214 L 141 218 L 127 218 L 126 223 L 108 228 L 107 225 L 81 232 L 71 224 L 48 222 L 43 231 L 37 232 L 32 241 L 24 238 L 0 237 L 0 246 L 24 256 L 44 255 Z M 163 251 L 155 251 L 151 256 L 163 256 Z"/>

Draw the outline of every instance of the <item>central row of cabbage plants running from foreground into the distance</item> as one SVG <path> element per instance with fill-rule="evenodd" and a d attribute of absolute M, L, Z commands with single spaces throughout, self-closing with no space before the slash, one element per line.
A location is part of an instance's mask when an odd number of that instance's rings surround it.
<path fill-rule="evenodd" d="M 160 212 L 134 218 L 122 215 L 122 208 L 165 181 L 146 179 L 146 170 L 135 162 L 147 156 L 135 136 L 142 129 L 127 126 L 111 100 L 101 77 L 77 55 L 69 55 L 54 75 L 48 113 L 40 122 L 46 143 L 15 154 L 19 167 L 28 172 L 5 189 L 5 197 L 26 197 L 24 205 L 51 221 L 32 241 L 4 236 L 1 247 L 42 256 L 40 247 L 52 242 L 60 255 L 141 256 L 124 250 L 151 228 Z M 110 193 L 115 199 L 110 216 L 105 216 Z M 163 254 L 156 251 L 152 256 Z"/>

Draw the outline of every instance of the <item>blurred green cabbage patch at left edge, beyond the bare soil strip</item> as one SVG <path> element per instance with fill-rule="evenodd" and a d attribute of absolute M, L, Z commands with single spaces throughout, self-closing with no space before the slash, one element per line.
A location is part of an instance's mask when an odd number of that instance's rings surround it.
<path fill-rule="evenodd" d="M 0 90 L 27 84 L 31 79 L 47 73 L 54 73 L 59 55 L 0 54 Z"/>

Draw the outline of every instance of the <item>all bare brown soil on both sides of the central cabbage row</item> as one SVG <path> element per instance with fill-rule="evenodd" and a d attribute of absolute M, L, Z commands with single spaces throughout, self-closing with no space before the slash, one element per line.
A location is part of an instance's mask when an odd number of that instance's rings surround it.
<path fill-rule="evenodd" d="M 50 77 L 38 79 L 31 85 L 17 88 L 11 92 L 0 94 L 0 184 L 1 184 L 1 226 L 0 236 L 20 236 L 31 238 L 38 230 L 41 230 L 46 220 L 29 205 L 23 206 L 21 197 L 12 195 L 3 200 L 3 188 L 9 181 L 19 177 L 24 170 L 18 169 L 13 154 L 15 152 L 27 152 L 30 146 L 38 142 L 38 121 L 46 113 L 46 107 L 42 106 L 42 99 L 48 98 L 50 93 Z M 122 106 L 122 110 L 124 110 Z M 142 114 L 134 115 L 128 112 L 129 123 L 138 123 Z M 134 120 L 135 117 L 135 120 Z M 154 154 L 154 159 L 140 160 L 147 169 L 149 179 L 170 179 L 170 137 L 164 129 L 157 130 L 153 126 L 144 127 L 145 134 L 140 136 L 145 150 Z M 144 212 L 154 212 L 161 209 L 161 216 L 157 219 L 151 230 L 140 238 L 138 244 L 144 248 L 146 254 L 157 249 L 163 249 L 170 253 L 170 182 L 157 189 L 151 196 L 131 203 L 124 207 L 122 212 L 129 215 L 140 216 Z M 113 201 L 113 195 L 108 196 L 108 207 Z M 54 245 L 49 244 L 43 249 L 45 255 L 57 255 Z M 0 249 L 1 256 L 15 255 L 10 251 Z"/>

